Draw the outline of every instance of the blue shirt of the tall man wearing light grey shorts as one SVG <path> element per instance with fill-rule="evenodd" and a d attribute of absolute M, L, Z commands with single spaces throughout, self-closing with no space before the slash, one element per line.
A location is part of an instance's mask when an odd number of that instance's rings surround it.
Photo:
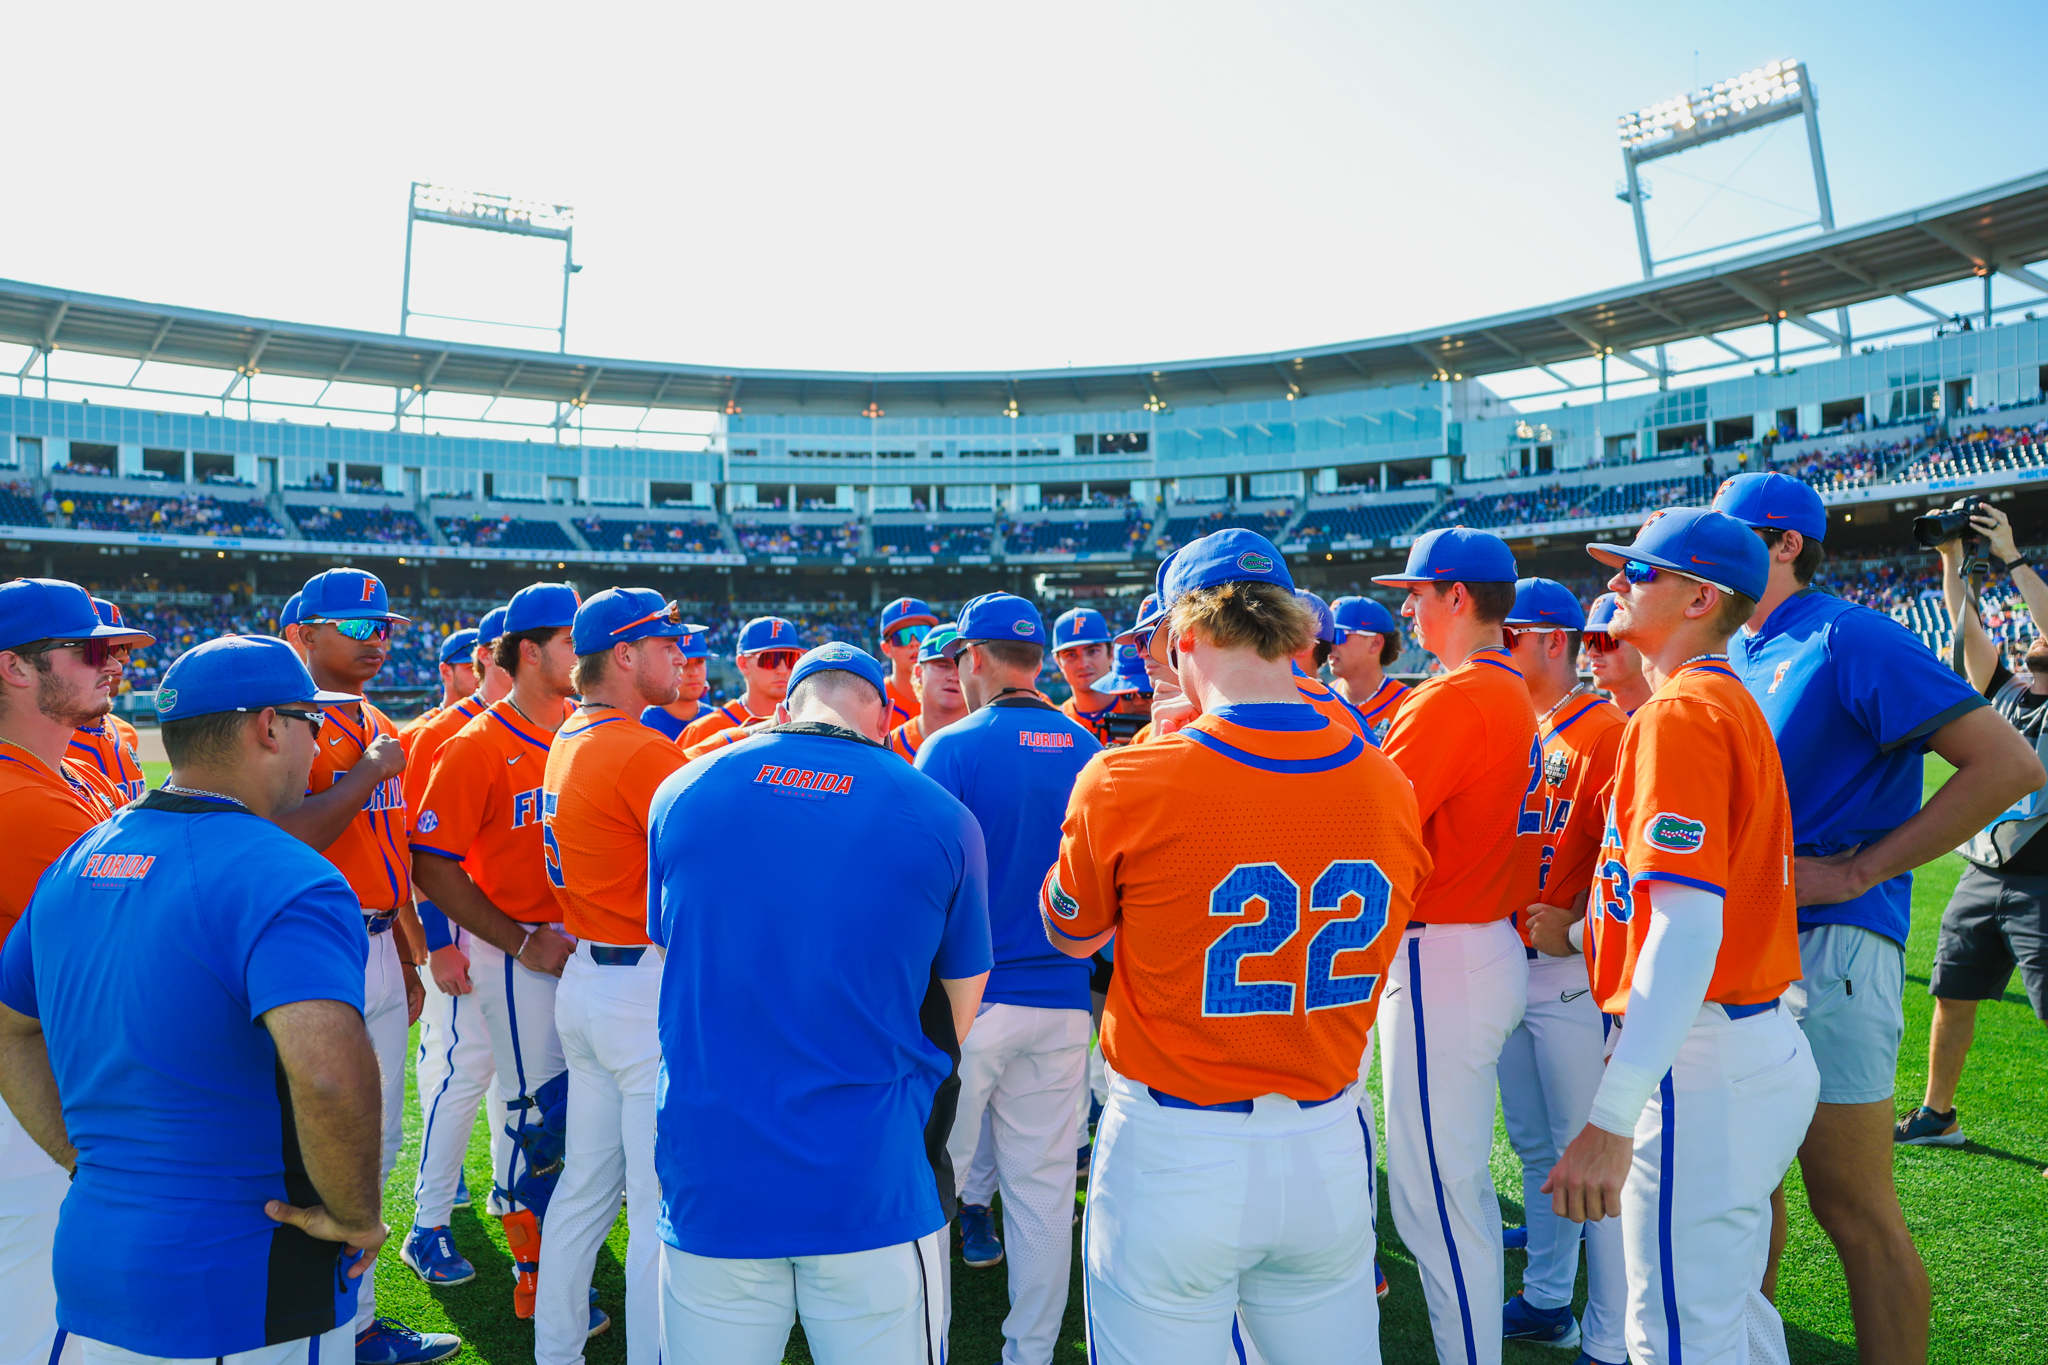
<path fill-rule="evenodd" d="M 1778 737 L 1800 855 L 1905 825 L 1921 808 L 1927 737 L 1987 704 L 1890 616 L 1810 587 L 1778 604 L 1763 630 L 1739 630 L 1729 663 Z M 1911 872 L 1855 900 L 1798 909 L 1800 929 L 1860 925 L 1901 945 L 1911 919 Z"/>

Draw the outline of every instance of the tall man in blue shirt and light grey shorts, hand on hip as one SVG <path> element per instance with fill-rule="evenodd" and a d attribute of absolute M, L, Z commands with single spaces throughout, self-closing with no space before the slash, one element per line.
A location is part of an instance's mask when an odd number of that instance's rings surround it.
<path fill-rule="evenodd" d="M 1800 1175 L 1841 1254 L 1862 1359 L 1923 1361 L 1927 1271 L 1892 1187 L 1913 868 L 2040 786 L 2042 765 L 1905 626 L 1808 587 L 1827 534 L 1827 508 L 1808 485 L 1737 475 L 1714 508 L 1755 528 L 1772 555 L 1767 589 L 1729 643 L 1729 663 L 1772 724 L 1792 794 L 1804 980 L 1786 1005 L 1821 1068 Z M 1921 806 L 1929 749 L 1956 776 Z"/>

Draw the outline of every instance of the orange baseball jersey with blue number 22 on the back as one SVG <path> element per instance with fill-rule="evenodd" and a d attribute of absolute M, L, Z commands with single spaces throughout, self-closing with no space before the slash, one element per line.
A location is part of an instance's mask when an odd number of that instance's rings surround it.
<path fill-rule="evenodd" d="M 1307 706 L 1241 706 L 1090 761 L 1038 907 L 1055 943 L 1116 931 L 1116 1070 L 1198 1105 L 1319 1101 L 1358 1078 L 1427 874 L 1378 749 Z"/>

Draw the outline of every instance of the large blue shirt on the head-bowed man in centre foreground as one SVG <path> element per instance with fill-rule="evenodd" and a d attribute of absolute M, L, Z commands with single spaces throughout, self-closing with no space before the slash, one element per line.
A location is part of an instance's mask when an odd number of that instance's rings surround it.
<path fill-rule="evenodd" d="M 881 745 L 791 724 L 670 774 L 647 845 L 662 1240 L 823 1257 L 942 1228 L 924 1128 L 952 1058 L 918 1011 L 934 976 L 989 970 L 975 817 Z"/>

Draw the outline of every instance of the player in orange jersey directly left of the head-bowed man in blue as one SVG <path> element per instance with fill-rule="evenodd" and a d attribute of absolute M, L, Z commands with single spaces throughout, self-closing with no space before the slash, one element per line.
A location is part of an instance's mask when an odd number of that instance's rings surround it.
<path fill-rule="evenodd" d="M 653 1105 L 662 1070 L 662 956 L 647 950 L 647 808 L 682 751 L 645 724 L 676 700 L 674 602 L 610 587 L 575 608 L 571 681 L 584 704 L 547 753 L 541 837 L 547 880 L 575 954 L 561 968 L 555 1029 L 569 1066 L 569 1140 L 547 1205 L 532 1340 L 537 1365 L 582 1365 L 590 1271 L 627 1201 L 627 1361 L 662 1355 L 662 1261 L 653 1230 Z"/>

